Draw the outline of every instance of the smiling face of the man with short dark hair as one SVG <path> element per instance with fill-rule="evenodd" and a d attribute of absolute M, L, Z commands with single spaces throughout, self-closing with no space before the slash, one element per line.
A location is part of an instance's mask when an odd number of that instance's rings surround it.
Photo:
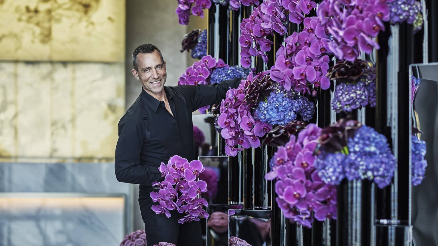
<path fill-rule="evenodd" d="M 166 83 L 166 62 L 162 62 L 158 51 L 139 53 L 137 55 L 137 67 L 137 76 L 143 88 L 149 93 L 161 93 L 164 83 Z"/>

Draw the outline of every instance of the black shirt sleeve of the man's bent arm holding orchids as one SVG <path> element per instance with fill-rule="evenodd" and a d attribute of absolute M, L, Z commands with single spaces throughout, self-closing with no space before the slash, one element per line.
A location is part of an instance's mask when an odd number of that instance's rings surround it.
<path fill-rule="evenodd" d="M 137 119 L 122 118 L 116 145 L 114 169 L 119 182 L 150 186 L 162 179 L 156 166 L 140 164 L 143 134 Z M 151 170 L 153 168 L 154 170 Z"/>

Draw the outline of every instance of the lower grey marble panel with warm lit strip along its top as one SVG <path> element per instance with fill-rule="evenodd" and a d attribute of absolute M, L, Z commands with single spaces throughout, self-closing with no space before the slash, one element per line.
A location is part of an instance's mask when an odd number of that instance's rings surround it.
<path fill-rule="evenodd" d="M 0 197 L 0 246 L 109 246 L 123 239 L 124 197 L 44 194 Z"/>

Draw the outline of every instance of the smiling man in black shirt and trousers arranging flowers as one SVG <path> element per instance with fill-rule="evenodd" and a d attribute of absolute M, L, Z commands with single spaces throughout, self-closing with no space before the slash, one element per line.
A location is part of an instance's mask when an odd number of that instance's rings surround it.
<path fill-rule="evenodd" d="M 115 171 L 119 182 L 139 184 L 141 217 L 145 222 L 148 245 L 159 242 L 177 246 L 201 246 L 201 224 L 179 224 L 184 214 L 171 211 L 171 217 L 152 211 L 152 182 L 164 180 L 158 167 L 174 155 L 193 160 L 192 112 L 219 103 L 229 87 L 240 79 L 215 85 L 165 87 L 166 62 L 155 45 L 140 45 L 132 54 L 132 74 L 143 87 L 140 96 L 119 122 Z"/>

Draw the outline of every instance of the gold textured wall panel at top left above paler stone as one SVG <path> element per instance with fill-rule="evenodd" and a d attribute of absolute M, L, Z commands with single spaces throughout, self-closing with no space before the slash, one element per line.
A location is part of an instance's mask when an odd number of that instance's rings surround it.
<path fill-rule="evenodd" d="M 0 13 L 0 60 L 124 61 L 124 0 L 0 0 Z"/>

